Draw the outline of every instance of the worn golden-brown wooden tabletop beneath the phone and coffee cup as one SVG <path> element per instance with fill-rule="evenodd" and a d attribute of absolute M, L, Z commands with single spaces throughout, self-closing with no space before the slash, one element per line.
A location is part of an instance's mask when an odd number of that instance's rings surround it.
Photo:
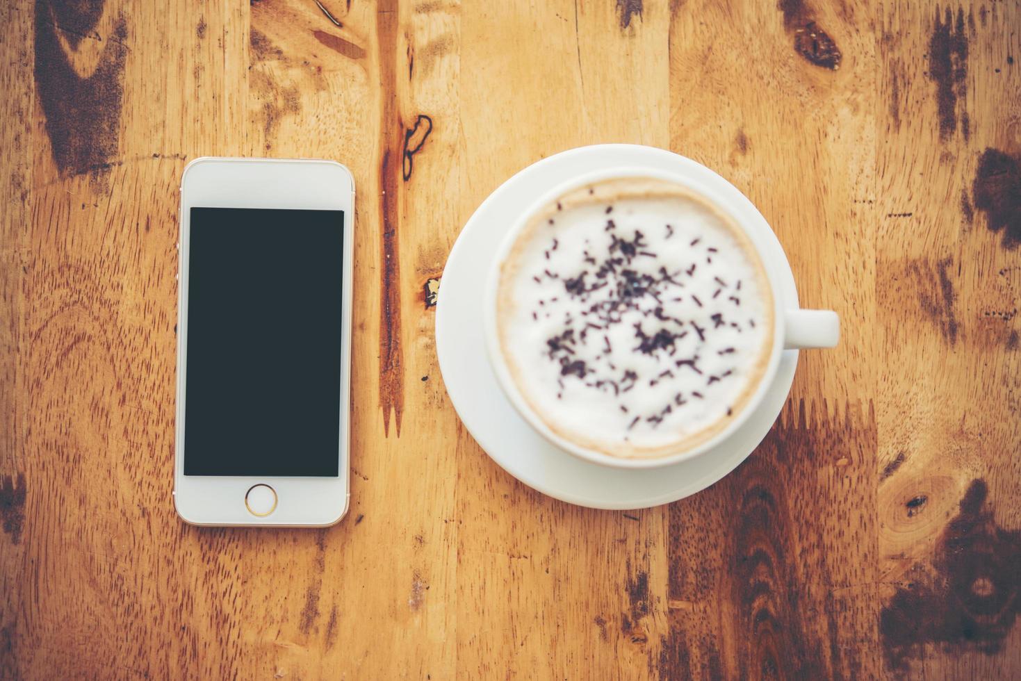
<path fill-rule="evenodd" d="M 1021 676 L 1018 2 L 41 0 L 0 31 L 3 678 Z M 640 513 L 479 449 L 426 291 L 489 192 L 598 142 L 717 169 L 843 320 L 743 466 Z M 329 530 L 174 513 L 177 188 L 210 154 L 355 177 Z"/>

